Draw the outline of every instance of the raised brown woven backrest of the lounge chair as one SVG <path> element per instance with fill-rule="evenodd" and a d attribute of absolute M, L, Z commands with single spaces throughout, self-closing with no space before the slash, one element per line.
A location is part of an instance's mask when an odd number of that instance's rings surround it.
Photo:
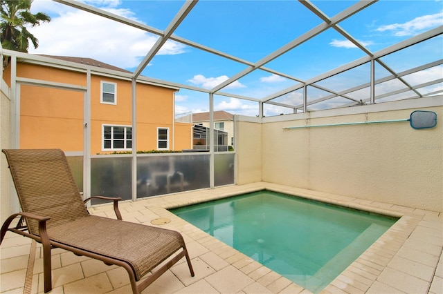
<path fill-rule="evenodd" d="M 3 149 L 21 209 L 51 217 L 47 228 L 88 215 L 71 169 L 60 149 Z M 38 235 L 38 222 L 26 219 L 28 230 Z"/>

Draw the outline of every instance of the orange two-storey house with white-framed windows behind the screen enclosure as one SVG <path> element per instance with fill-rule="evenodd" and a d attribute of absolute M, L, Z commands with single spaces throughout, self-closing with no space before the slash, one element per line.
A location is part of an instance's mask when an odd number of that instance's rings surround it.
<path fill-rule="evenodd" d="M 20 101 L 20 148 L 61 148 L 82 151 L 84 128 L 91 128 L 91 154 L 132 150 L 132 82 L 100 72 L 116 68 L 95 59 L 45 56 L 61 59 L 51 65 L 17 62 L 17 79 L 37 79 L 58 84 L 87 86 L 86 70 L 69 65 L 82 63 L 91 70 L 91 126 L 84 123 L 84 93 L 22 84 Z M 64 65 L 66 64 L 66 66 Z M 10 86 L 10 67 L 3 72 Z M 137 150 L 192 148 L 192 124 L 174 121 L 177 88 L 136 84 Z"/>

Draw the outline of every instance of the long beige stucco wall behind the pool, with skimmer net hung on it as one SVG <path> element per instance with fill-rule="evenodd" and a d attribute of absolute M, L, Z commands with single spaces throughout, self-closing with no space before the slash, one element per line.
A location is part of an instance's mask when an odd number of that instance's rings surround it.
<path fill-rule="evenodd" d="M 422 107 L 420 101 L 399 101 L 385 104 L 386 110 L 383 105 L 376 104 L 361 106 L 355 111 L 350 108 L 325 110 L 324 113 L 331 115 L 311 112 L 311 115 L 267 121 L 265 118 L 259 136 L 262 141 L 262 181 L 442 211 L 443 98 L 427 101 L 431 101 L 428 104 L 431 106 Z M 396 107 L 403 109 L 395 110 Z M 437 112 L 437 126 L 415 130 L 404 121 L 283 129 L 305 124 L 408 119 L 414 110 Z M 293 119 L 288 120 L 291 117 Z M 239 122 L 237 133 L 239 151 L 243 151 L 238 153 L 240 174 L 244 172 L 244 166 L 258 167 L 255 163 L 243 162 L 255 160 L 248 152 L 246 158 L 242 158 L 246 149 L 242 144 L 244 141 L 247 148 L 255 146 L 251 139 L 244 139 L 251 133 L 251 128 L 247 128 L 249 124 Z M 248 180 L 244 176 L 242 179 Z"/>

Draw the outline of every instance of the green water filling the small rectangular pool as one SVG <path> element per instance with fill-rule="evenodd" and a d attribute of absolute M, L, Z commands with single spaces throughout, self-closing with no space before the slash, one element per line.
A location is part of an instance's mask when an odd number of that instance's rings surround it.
<path fill-rule="evenodd" d="M 313 293 L 397 221 L 268 190 L 170 211 Z"/>

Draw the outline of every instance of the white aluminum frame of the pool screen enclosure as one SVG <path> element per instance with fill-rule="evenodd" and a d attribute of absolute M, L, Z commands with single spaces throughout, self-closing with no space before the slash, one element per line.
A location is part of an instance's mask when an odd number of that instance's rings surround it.
<path fill-rule="evenodd" d="M 411 98 L 417 98 L 417 99 L 431 97 L 433 95 L 439 95 L 439 94 L 443 93 L 443 90 L 436 90 L 435 92 L 426 93 L 426 94 L 422 94 L 422 92 L 419 91 L 420 88 L 423 88 L 426 86 L 433 86 L 433 85 L 441 84 L 443 82 L 443 78 L 442 79 L 435 79 L 434 81 L 424 81 L 422 84 L 415 85 L 415 86 L 411 86 L 403 78 L 404 76 L 409 75 L 413 72 L 419 72 L 420 70 L 426 70 L 427 68 L 431 68 L 433 66 L 440 66 L 441 64 L 443 64 L 443 59 L 439 59 L 437 61 L 433 61 L 431 63 L 425 64 L 422 66 L 418 66 L 416 68 L 406 70 L 404 72 L 395 72 L 395 70 L 392 70 L 392 68 L 390 68 L 386 63 L 384 63 L 381 60 L 382 57 L 385 57 L 386 55 L 389 55 L 393 52 L 397 52 L 397 51 L 407 48 L 409 46 L 414 46 L 415 44 L 420 43 L 422 41 L 426 41 L 428 39 L 443 35 L 443 26 L 438 26 L 437 28 L 434 28 L 432 30 L 428 30 L 427 32 L 424 32 L 420 35 L 417 35 L 415 37 L 411 37 L 410 39 L 406 39 L 405 41 L 401 41 L 399 43 L 396 43 L 395 45 L 385 48 L 383 50 L 379 50 L 378 52 L 370 52 L 370 50 L 368 50 L 368 48 L 365 48 L 365 46 L 363 46 L 362 43 L 357 41 L 352 35 L 350 35 L 348 32 L 343 30 L 343 28 L 341 28 L 341 26 L 340 26 L 341 21 L 343 21 L 349 17 L 352 17 L 354 14 L 360 12 L 361 10 L 364 10 L 365 8 L 368 8 L 373 3 L 376 3 L 377 0 L 361 0 L 357 3 L 355 3 L 354 5 L 350 6 L 349 8 L 339 12 L 334 17 L 327 17 L 327 14 L 325 14 L 323 11 L 318 9 L 316 6 L 314 6 L 313 3 L 311 3 L 308 0 L 298 0 L 303 6 L 305 6 L 310 12 L 315 14 L 316 17 L 321 19 L 321 21 L 323 21 L 323 22 L 320 23 L 315 28 L 312 28 L 311 30 L 305 32 L 305 34 L 297 37 L 296 39 L 293 39 L 293 41 L 290 41 L 286 45 L 278 48 L 278 50 L 275 50 L 271 54 L 263 57 L 262 59 L 260 59 L 257 62 L 247 61 L 247 60 L 241 59 L 239 57 L 229 55 L 225 52 L 221 52 L 219 50 L 215 50 L 215 49 L 210 48 L 208 46 L 204 46 L 199 43 L 195 43 L 194 41 L 190 41 L 188 39 L 184 39 L 182 37 L 178 37 L 178 36 L 174 35 L 174 31 L 179 27 L 179 25 L 183 21 L 183 19 L 186 19 L 188 14 L 197 5 L 198 0 L 187 0 L 183 4 L 183 6 L 179 10 L 179 12 L 177 12 L 177 15 L 174 17 L 174 19 L 172 19 L 172 21 L 170 21 L 168 27 L 165 30 L 159 30 L 158 28 L 153 28 L 151 26 L 147 26 L 143 23 L 133 21 L 132 19 L 120 17 L 120 16 L 113 14 L 111 12 L 107 12 L 105 10 L 95 8 L 93 6 L 89 6 L 87 4 L 84 4 L 84 3 L 81 3 L 78 1 L 73 1 L 73 0 L 53 0 L 53 1 L 56 1 L 58 3 L 62 3 L 66 6 L 71 6 L 73 8 L 77 8 L 79 10 L 89 12 L 92 14 L 96 14 L 100 17 L 105 17 L 105 18 L 110 19 L 112 21 L 118 21 L 119 23 L 123 23 L 127 26 L 132 26 L 134 28 L 138 28 L 138 29 L 143 30 L 145 32 L 150 32 L 154 35 L 159 36 L 159 39 L 156 41 L 154 46 L 151 48 L 150 52 L 148 52 L 147 55 L 145 55 L 143 61 L 141 61 L 141 63 L 136 68 L 136 70 L 134 70 L 134 72 L 119 72 L 116 70 L 108 70 L 108 69 L 104 69 L 104 68 L 93 67 L 93 66 L 89 66 L 86 64 L 73 63 L 73 62 L 69 62 L 69 61 L 61 61 L 61 60 L 52 59 L 49 57 L 43 57 L 43 56 L 38 56 L 38 55 L 28 55 L 26 53 L 15 52 L 15 51 L 11 51 L 11 50 L 1 50 L 1 53 L 3 56 L 11 57 L 12 64 L 14 64 L 14 65 L 17 62 L 17 59 L 20 59 L 22 62 L 35 63 L 35 64 L 40 64 L 40 65 L 44 65 L 44 66 L 51 66 L 51 67 L 55 67 L 55 68 L 64 68 L 66 70 L 74 70 L 74 71 L 78 71 L 78 72 L 86 72 L 88 78 L 87 78 L 87 91 L 85 92 L 86 94 L 85 94 L 85 98 L 84 98 L 84 106 L 85 106 L 85 108 L 87 108 L 84 110 L 85 124 L 89 124 L 87 121 L 90 121 L 90 116 L 91 116 L 91 113 L 90 113 L 91 109 L 90 109 L 90 105 L 89 105 L 89 101 L 91 101 L 91 93 L 90 93 L 91 75 L 98 75 L 101 77 L 111 77 L 114 79 L 124 79 L 127 81 L 132 81 L 132 132 L 133 132 L 133 139 L 132 139 L 133 140 L 132 141 L 133 155 L 132 156 L 133 156 L 133 173 L 134 173 L 133 187 L 136 186 L 136 182 L 135 182 L 135 179 L 136 179 L 136 83 L 152 84 L 152 85 L 156 85 L 156 86 L 163 86 L 163 87 L 167 87 L 167 88 L 172 88 L 175 90 L 179 90 L 179 89 L 183 88 L 183 89 L 195 90 L 195 91 L 207 93 L 208 94 L 208 101 L 209 101 L 209 105 L 210 105 L 210 135 L 213 135 L 213 128 L 214 128 L 214 125 L 213 125 L 214 95 L 233 97 L 233 98 L 244 99 L 244 100 L 248 100 L 248 101 L 255 101 L 255 102 L 257 102 L 257 104 L 259 106 L 259 117 L 264 117 L 264 113 L 263 113 L 264 104 L 271 104 L 271 105 L 275 105 L 275 106 L 282 106 L 284 108 L 290 108 L 293 110 L 293 113 L 298 113 L 299 111 L 306 113 L 306 112 L 309 112 L 308 106 L 311 106 L 313 104 L 320 103 L 323 101 L 327 101 L 328 99 L 333 99 L 335 97 L 344 97 L 345 99 L 349 99 L 349 104 L 345 104 L 345 105 L 341 106 L 341 107 L 347 107 L 347 106 L 358 106 L 358 105 L 362 105 L 362 104 L 375 104 L 375 103 L 377 103 L 377 99 L 388 97 L 390 95 L 397 95 L 397 94 L 399 94 L 401 92 L 405 92 L 405 91 L 412 91 L 415 96 L 411 97 Z M 305 43 L 309 39 L 316 37 L 316 35 L 319 35 L 320 33 L 324 32 L 325 30 L 328 30 L 328 29 L 336 30 L 336 32 L 338 32 L 340 35 L 345 37 L 345 39 L 347 39 L 348 41 L 353 43 L 357 48 L 362 50 L 366 56 L 361 57 L 360 59 L 357 59 L 357 60 L 352 61 L 350 63 L 347 63 L 343 66 L 340 66 L 338 68 L 335 68 L 334 70 L 330 70 L 328 72 L 325 72 L 322 75 L 318 75 L 317 77 L 308 79 L 306 81 L 303 81 L 302 79 L 298 79 L 298 77 L 293 77 L 293 76 L 287 75 L 283 72 L 278 72 L 277 70 L 273 70 L 271 68 L 265 67 L 266 64 L 269 63 L 270 61 L 273 61 L 274 59 L 284 55 L 286 52 L 289 52 L 289 50 L 292 50 L 293 48 L 300 46 L 300 44 Z M 237 74 L 233 75 L 232 77 L 230 77 L 226 81 L 220 83 L 219 85 L 217 85 L 214 88 L 209 89 L 209 90 L 205 89 L 205 88 L 196 87 L 196 86 L 190 86 L 187 84 L 174 83 L 171 81 L 163 81 L 160 79 L 153 79 L 150 77 L 142 76 L 141 72 L 143 71 L 143 69 L 156 56 L 156 53 L 159 52 L 161 46 L 163 46 L 163 44 L 168 40 L 177 41 L 179 43 L 183 43 L 186 46 L 191 46 L 192 48 L 196 48 L 196 49 L 202 50 L 204 52 L 209 52 L 213 55 L 217 55 L 218 57 L 222 57 L 228 61 L 235 61 L 239 64 L 244 65 L 245 68 L 244 68 L 244 70 L 237 72 Z M 342 90 L 340 92 L 336 92 L 334 90 L 330 90 L 330 89 L 327 89 L 323 86 L 319 86 L 316 84 L 318 81 L 322 81 L 323 79 L 333 77 L 334 75 L 338 75 L 341 72 L 345 72 L 346 70 L 350 70 L 352 68 L 356 68 L 357 66 L 361 66 L 364 63 L 370 63 L 370 68 L 371 68 L 369 82 L 366 84 L 354 86 L 350 89 Z M 374 70 L 375 70 L 376 63 L 379 63 L 379 65 L 382 68 L 384 68 L 388 72 L 390 72 L 390 76 L 384 77 L 383 79 L 375 80 Z M 12 70 L 11 70 L 12 75 L 14 75 L 14 77 L 17 74 L 15 69 L 16 69 L 15 66 L 13 66 Z M 223 90 L 226 88 L 226 86 L 229 86 L 233 82 L 237 81 L 238 79 L 241 79 L 242 77 L 248 75 L 249 73 L 253 72 L 254 70 L 263 70 L 265 72 L 270 72 L 275 75 L 280 75 L 281 77 L 284 77 L 286 79 L 290 79 L 291 81 L 296 81 L 297 84 L 294 86 L 291 86 L 289 88 L 286 88 L 284 90 L 280 90 L 278 92 L 275 92 L 272 95 L 269 95 L 267 97 L 260 98 L 260 99 L 257 97 L 246 97 L 243 95 L 235 95 L 232 93 L 223 92 Z M 401 89 L 401 90 L 394 91 L 394 92 L 385 93 L 383 95 L 376 96 L 375 95 L 375 87 L 377 86 L 377 84 L 381 84 L 385 81 L 392 80 L 392 79 L 399 80 L 401 82 L 401 84 L 404 84 L 405 88 Z M 32 81 L 21 80 L 19 82 L 32 82 Z M 12 81 L 11 81 L 11 95 L 12 95 L 12 97 L 17 97 L 17 93 L 15 93 L 15 91 L 17 90 L 16 83 L 17 83 L 17 81 L 15 80 L 15 78 L 12 79 Z M 48 83 L 46 81 L 45 81 L 45 83 L 47 85 L 51 85 L 51 83 Z M 52 84 L 51 86 L 62 86 L 62 85 Z M 307 87 L 308 86 L 315 87 L 320 90 L 329 92 L 329 95 L 327 95 L 327 97 L 322 97 L 322 98 L 316 99 L 314 101 L 308 101 L 308 99 L 307 99 Z M 370 88 L 370 97 L 368 97 L 368 99 L 359 100 L 359 99 L 354 99 L 348 95 L 351 92 L 354 92 L 356 90 L 361 90 L 363 88 L 368 88 L 368 87 Z M 293 92 L 295 90 L 300 90 L 300 89 L 302 89 L 302 92 L 303 92 L 302 104 L 294 106 L 294 105 L 290 105 L 290 104 L 284 104 L 284 103 L 281 103 L 278 101 L 273 101 L 273 99 L 275 99 L 275 98 L 281 97 L 282 95 L 287 95 L 290 92 Z M 18 112 L 17 112 L 17 110 L 18 110 Z M 17 115 L 19 117 L 19 109 L 17 109 L 17 106 L 16 106 L 16 108 L 14 108 L 12 111 L 15 112 L 15 115 L 12 116 L 13 118 L 15 117 L 14 118 L 15 122 L 14 122 L 14 124 L 12 124 L 12 128 L 13 128 L 12 132 L 14 134 L 14 136 L 12 136 L 12 140 L 13 140 L 13 144 L 15 144 L 15 146 L 18 146 L 19 134 L 17 133 L 17 130 L 19 130 L 19 128 L 17 129 L 17 124 L 19 124 L 19 122 L 17 122 Z M 86 133 L 84 135 L 85 136 L 84 141 L 85 141 L 85 144 L 89 144 L 91 134 L 90 134 L 90 132 L 88 133 L 89 128 L 87 128 L 86 126 L 87 125 L 85 125 L 85 132 Z M 170 135 L 169 132 L 168 132 L 168 135 Z M 169 143 L 169 140 L 168 140 L 168 143 Z M 210 144 L 213 144 L 213 139 L 210 139 Z M 211 185 L 211 188 L 213 188 L 213 182 L 214 182 L 213 181 L 213 176 L 214 176 L 213 175 L 213 164 L 214 164 L 213 163 L 213 157 L 214 157 L 213 152 L 214 151 L 213 151 L 213 148 L 210 148 L 210 149 L 211 149 L 211 153 L 210 153 L 210 155 L 211 155 L 210 185 Z M 90 164 L 90 152 L 89 151 L 90 151 L 90 146 L 89 145 L 84 146 L 84 153 L 86 155 L 85 157 L 87 158 L 87 160 L 85 161 L 86 164 Z M 89 170 L 88 170 L 88 173 L 89 173 Z M 88 178 L 88 175 L 86 175 L 85 178 Z M 133 189 L 133 191 L 134 190 L 135 189 Z M 135 199 L 134 195 L 133 195 L 133 198 Z"/>

